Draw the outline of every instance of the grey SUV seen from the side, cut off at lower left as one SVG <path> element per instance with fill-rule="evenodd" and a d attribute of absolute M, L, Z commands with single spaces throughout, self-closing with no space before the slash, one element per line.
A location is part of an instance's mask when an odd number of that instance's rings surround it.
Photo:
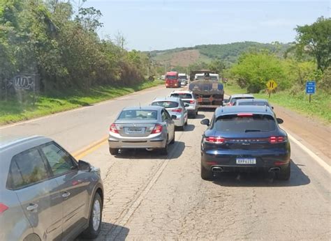
<path fill-rule="evenodd" d="M 46 137 L 0 136 L 0 240 L 96 238 L 100 169 Z"/>

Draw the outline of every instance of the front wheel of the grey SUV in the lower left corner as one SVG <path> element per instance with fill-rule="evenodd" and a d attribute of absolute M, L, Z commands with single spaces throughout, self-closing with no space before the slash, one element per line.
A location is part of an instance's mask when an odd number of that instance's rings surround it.
<path fill-rule="evenodd" d="M 94 239 L 98 237 L 101 230 L 103 204 L 100 194 L 94 194 L 89 215 L 89 227 L 82 233 L 84 238 Z"/>

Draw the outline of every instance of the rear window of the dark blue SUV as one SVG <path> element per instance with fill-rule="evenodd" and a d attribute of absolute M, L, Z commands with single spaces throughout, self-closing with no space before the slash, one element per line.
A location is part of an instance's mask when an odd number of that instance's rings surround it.
<path fill-rule="evenodd" d="M 217 132 L 270 132 L 275 129 L 274 118 L 261 114 L 219 116 L 214 123 Z"/>

